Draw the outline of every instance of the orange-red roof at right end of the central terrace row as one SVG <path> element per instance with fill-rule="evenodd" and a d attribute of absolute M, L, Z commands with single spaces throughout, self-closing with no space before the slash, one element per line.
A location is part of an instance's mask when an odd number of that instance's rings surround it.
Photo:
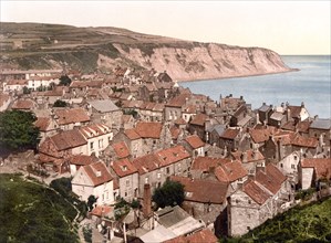
<path fill-rule="evenodd" d="M 170 163 L 178 162 L 183 159 L 190 158 L 190 155 L 186 151 L 186 149 L 182 145 L 177 145 L 172 148 L 166 148 L 155 152 L 161 160 L 163 161 L 163 166 L 168 166 Z"/>

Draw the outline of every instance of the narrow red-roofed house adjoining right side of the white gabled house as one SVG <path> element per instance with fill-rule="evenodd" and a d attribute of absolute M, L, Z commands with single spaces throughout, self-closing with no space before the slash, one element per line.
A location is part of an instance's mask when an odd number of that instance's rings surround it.
<path fill-rule="evenodd" d="M 111 162 L 111 169 L 116 175 L 120 186 L 120 197 L 131 202 L 138 197 L 138 172 L 128 159 Z"/>

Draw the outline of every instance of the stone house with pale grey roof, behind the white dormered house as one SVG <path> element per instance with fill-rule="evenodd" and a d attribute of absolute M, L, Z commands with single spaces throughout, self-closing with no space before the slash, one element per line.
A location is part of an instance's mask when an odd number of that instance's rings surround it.
<path fill-rule="evenodd" d="M 105 124 L 112 129 L 120 129 L 123 113 L 111 99 L 95 99 L 86 103 L 92 122 Z"/>

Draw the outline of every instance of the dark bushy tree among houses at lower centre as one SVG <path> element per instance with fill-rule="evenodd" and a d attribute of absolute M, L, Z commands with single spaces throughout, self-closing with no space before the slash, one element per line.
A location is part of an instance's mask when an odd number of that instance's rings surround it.
<path fill-rule="evenodd" d="M 155 189 L 153 194 L 153 201 L 157 208 L 176 204 L 182 205 L 184 198 L 184 186 L 170 180 L 167 180 L 161 188 Z"/>

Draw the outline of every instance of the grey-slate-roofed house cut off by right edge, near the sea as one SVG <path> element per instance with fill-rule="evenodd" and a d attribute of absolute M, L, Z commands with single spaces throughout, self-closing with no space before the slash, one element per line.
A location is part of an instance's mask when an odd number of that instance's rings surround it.
<path fill-rule="evenodd" d="M 330 147 L 331 140 L 331 119 L 316 118 L 309 127 L 309 136 L 318 138 L 321 147 Z"/>

